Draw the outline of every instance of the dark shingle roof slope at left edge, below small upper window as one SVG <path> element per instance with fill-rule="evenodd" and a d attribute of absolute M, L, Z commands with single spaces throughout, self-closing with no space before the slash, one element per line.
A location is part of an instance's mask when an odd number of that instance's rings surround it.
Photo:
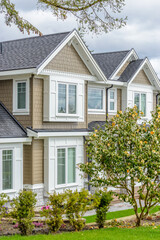
<path fill-rule="evenodd" d="M 27 137 L 26 131 L 0 102 L 0 138 L 23 137 Z"/>

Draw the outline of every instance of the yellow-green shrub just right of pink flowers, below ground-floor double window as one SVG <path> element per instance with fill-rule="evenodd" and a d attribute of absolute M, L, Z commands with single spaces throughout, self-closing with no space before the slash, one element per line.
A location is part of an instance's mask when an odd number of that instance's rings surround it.
<path fill-rule="evenodd" d="M 65 213 L 65 193 L 54 192 L 49 196 L 49 205 L 42 207 L 41 216 L 47 218 L 47 224 L 51 232 L 57 232 L 63 224 L 62 216 Z"/>

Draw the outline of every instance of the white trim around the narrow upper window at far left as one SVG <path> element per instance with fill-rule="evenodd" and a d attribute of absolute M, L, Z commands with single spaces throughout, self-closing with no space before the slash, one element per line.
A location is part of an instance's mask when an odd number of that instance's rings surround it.
<path fill-rule="evenodd" d="M 26 82 L 26 108 L 18 109 L 17 86 L 18 83 Z M 29 115 L 29 78 L 13 79 L 13 114 L 14 115 Z"/>

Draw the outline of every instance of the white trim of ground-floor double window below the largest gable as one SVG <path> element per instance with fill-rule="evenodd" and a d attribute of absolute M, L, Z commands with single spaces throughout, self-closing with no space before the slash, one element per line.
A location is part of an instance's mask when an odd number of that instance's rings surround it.
<path fill-rule="evenodd" d="M 77 172 L 77 167 L 75 167 L 75 182 L 74 183 L 67 183 L 67 177 L 68 177 L 68 173 L 67 173 L 67 170 L 68 170 L 68 148 L 75 148 L 75 165 L 77 165 L 77 162 L 76 162 L 76 159 L 77 159 L 77 146 L 58 146 L 56 147 L 56 164 L 55 164 L 55 177 L 56 177 L 56 184 L 55 184 L 55 188 L 58 189 L 58 188 L 66 188 L 66 187 L 73 187 L 73 186 L 77 186 L 78 183 L 77 183 L 77 178 L 76 178 L 76 172 Z M 58 167 L 58 149 L 65 149 L 65 175 L 66 175 L 66 183 L 65 184 L 58 184 L 57 180 L 58 180 L 58 174 L 57 174 L 57 167 Z"/>

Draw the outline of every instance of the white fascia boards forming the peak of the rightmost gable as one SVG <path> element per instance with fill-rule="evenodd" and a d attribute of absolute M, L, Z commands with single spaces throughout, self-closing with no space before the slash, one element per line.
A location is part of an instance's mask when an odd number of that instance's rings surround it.
<path fill-rule="evenodd" d="M 129 80 L 128 85 L 132 83 L 132 81 L 135 79 L 137 74 L 143 69 L 144 65 L 147 64 L 153 78 L 155 79 L 155 82 L 157 84 L 157 87 L 160 89 L 160 81 L 159 78 L 157 77 L 157 74 L 155 73 L 155 70 L 153 69 L 150 61 L 148 58 L 145 58 L 144 61 L 141 63 L 140 67 L 138 68 L 137 72 L 133 75 L 133 77 Z M 152 80 L 153 81 L 153 80 Z"/>

